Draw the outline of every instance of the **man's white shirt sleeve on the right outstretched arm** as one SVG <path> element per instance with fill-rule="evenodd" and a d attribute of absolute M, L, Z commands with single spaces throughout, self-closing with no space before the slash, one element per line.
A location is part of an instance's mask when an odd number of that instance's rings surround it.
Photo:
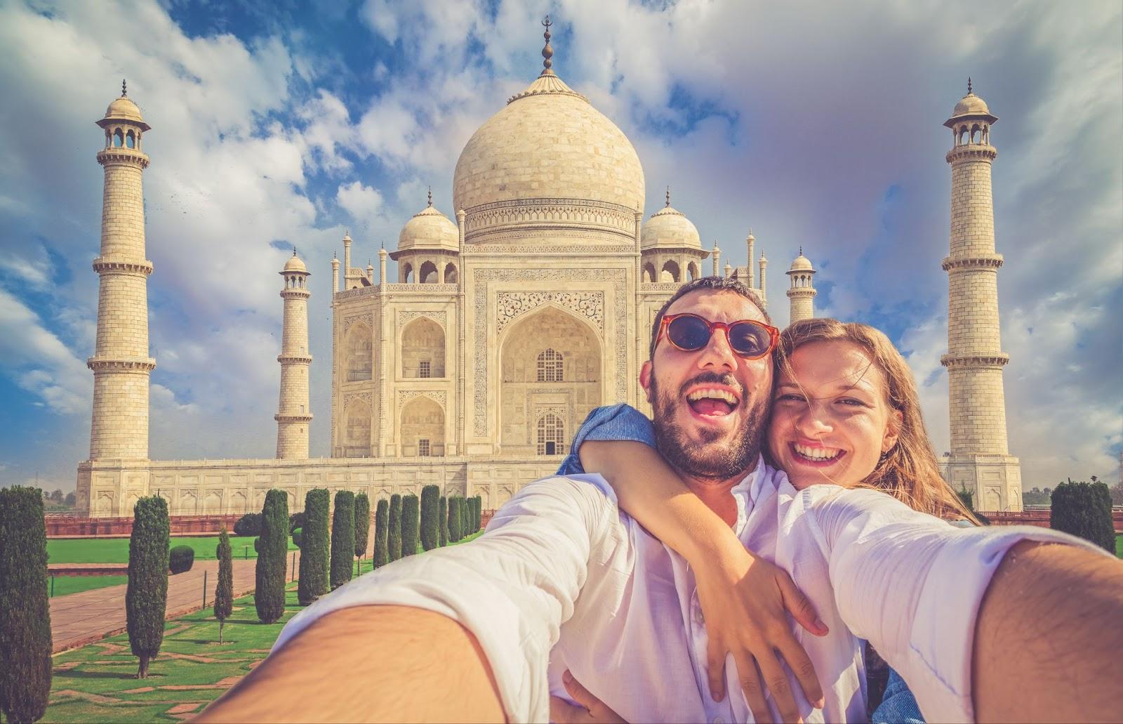
<path fill-rule="evenodd" d="M 932 722 L 975 721 L 975 622 L 1011 546 L 1029 540 L 1104 553 L 1047 528 L 957 528 L 875 490 L 812 486 L 802 495 L 842 619 L 902 675 Z"/>

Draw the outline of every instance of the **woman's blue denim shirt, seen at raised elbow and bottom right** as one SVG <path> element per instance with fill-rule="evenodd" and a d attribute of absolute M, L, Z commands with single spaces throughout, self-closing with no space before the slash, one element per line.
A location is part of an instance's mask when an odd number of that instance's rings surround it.
<path fill-rule="evenodd" d="M 558 468 L 559 476 L 585 472 L 581 465 L 577 451 L 586 440 L 630 440 L 655 447 L 655 428 L 651 420 L 630 405 L 609 405 L 593 409 L 582 423 L 581 429 L 573 438 L 569 454 Z M 924 717 L 916 704 L 916 698 L 901 676 L 889 669 L 885 696 L 874 711 L 873 722 L 902 724 L 924 724 Z"/>

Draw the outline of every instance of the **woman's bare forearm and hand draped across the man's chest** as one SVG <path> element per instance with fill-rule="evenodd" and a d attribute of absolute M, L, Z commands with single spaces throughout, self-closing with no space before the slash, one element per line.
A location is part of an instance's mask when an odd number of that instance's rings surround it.
<path fill-rule="evenodd" d="M 758 722 L 772 721 L 757 667 L 784 721 L 798 707 L 776 654 L 787 661 L 807 700 L 821 707 L 814 666 L 796 641 L 791 613 L 823 635 L 810 601 L 786 572 L 752 555 L 722 521 L 651 447 L 639 442 L 587 441 L 581 462 L 612 486 L 620 508 L 694 567 L 709 640 L 706 673 L 715 700 L 724 696 L 725 653 L 733 655 L 746 699 Z"/>

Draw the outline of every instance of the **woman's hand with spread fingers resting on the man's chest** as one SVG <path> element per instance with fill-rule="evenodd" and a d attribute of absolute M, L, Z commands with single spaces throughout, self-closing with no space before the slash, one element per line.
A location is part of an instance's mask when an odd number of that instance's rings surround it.
<path fill-rule="evenodd" d="M 725 696 L 729 652 L 737 662 L 745 698 L 757 722 L 772 722 L 761 679 L 783 721 L 798 721 L 800 711 L 777 655 L 787 662 L 804 696 L 816 708 L 823 706 L 823 693 L 807 652 L 792 632 L 787 614 L 816 636 L 827 635 L 827 626 L 784 570 L 745 550 L 734 536 L 722 537 L 715 555 L 691 561 L 709 639 L 710 691 L 716 702 Z"/>

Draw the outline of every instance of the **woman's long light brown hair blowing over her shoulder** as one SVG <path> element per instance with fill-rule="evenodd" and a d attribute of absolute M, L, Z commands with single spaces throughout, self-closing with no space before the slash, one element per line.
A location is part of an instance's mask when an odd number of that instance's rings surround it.
<path fill-rule="evenodd" d="M 944 519 L 978 521 L 940 474 L 940 467 L 924 429 L 920 413 L 920 396 L 909 363 L 889 338 L 874 327 L 838 319 L 803 319 L 788 326 L 779 336 L 776 353 L 777 372 L 791 377 L 792 353 L 812 342 L 852 342 L 862 347 L 874 364 L 885 374 L 886 402 L 901 413 L 896 444 L 884 455 L 862 487 L 889 494 L 910 508 Z M 894 424 L 891 420 L 891 424 Z"/>

